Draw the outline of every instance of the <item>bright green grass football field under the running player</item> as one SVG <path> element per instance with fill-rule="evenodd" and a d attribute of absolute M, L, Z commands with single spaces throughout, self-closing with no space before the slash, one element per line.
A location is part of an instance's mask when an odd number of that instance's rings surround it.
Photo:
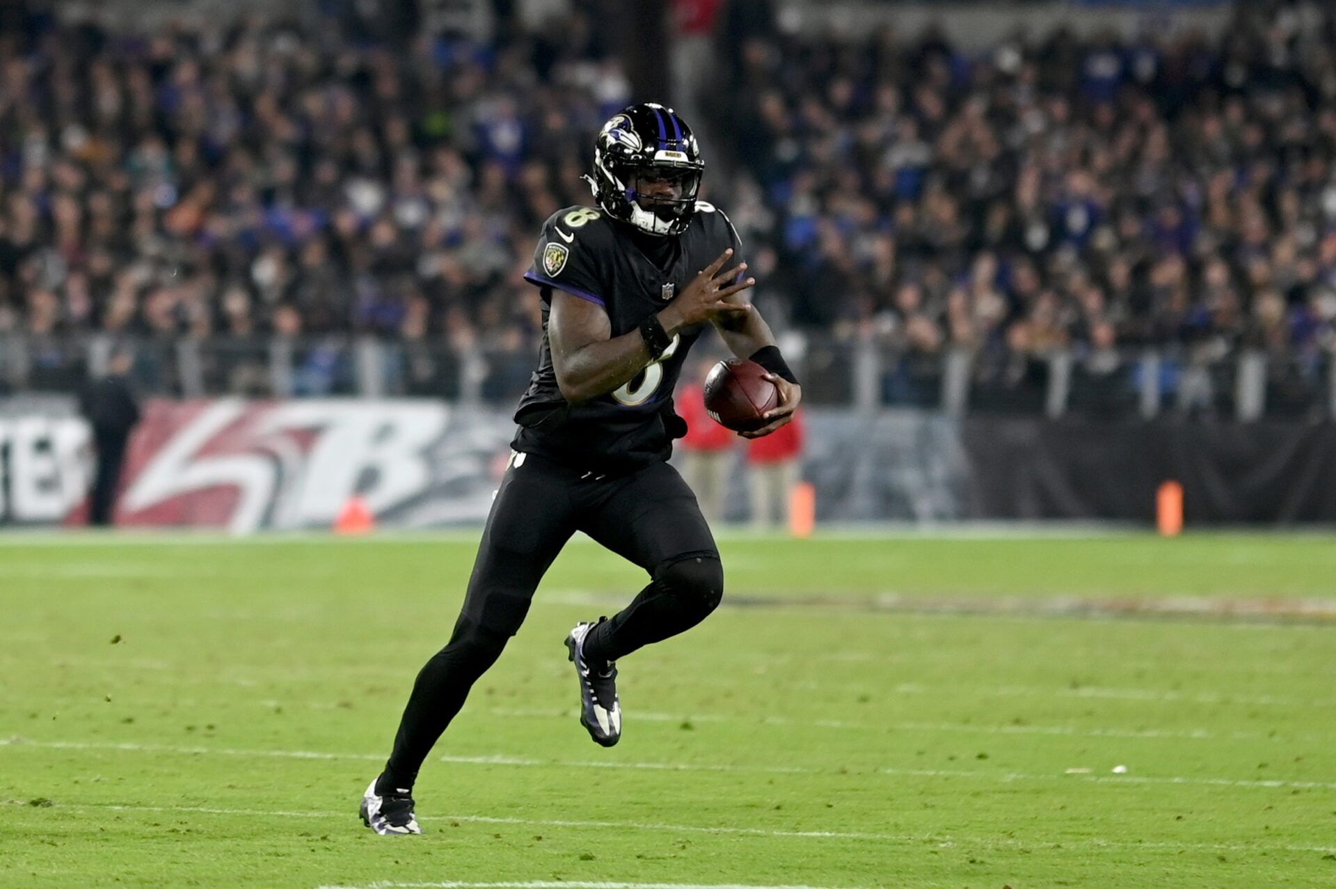
<path fill-rule="evenodd" d="M 473 548 L 5 539 L 0 886 L 1336 886 L 1336 537 L 724 539 L 612 750 L 577 541 L 375 837 Z"/>

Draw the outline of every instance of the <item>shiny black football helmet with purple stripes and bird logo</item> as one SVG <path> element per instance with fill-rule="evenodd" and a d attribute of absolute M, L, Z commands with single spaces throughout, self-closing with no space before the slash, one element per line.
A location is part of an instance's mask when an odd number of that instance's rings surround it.
<path fill-rule="evenodd" d="M 627 106 L 603 124 L 593 147 L 593 197 L 613 219 L 652 235 L 677 235 L 696 214 L 705 162 L 687 122 L 653 102 Z M 676 197 L 640 194 L 645 179 L 668 180 Z"/>

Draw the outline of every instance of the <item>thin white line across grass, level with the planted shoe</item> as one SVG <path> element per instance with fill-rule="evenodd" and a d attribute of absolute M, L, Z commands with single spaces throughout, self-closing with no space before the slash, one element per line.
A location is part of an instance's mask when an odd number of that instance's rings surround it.
<path fill-rule="evenodd" d="M 0 805 L 24 807 L 28 803 L 23 799 L 0 799 Z M 243 815 L 254 818 L 338 818 L 349 819 L 347 811 L 274 811 L 266 809 L 219 809 L 214 806 L 140 806 L 116 803 L 52 803 L 55 809 L 72 809 L 76 811 L 179 811 L 206 815 Z M 763 830 L 760 828 L 701 828 L 695 825 L 671 823 L 644 823 L 636 821 L 565 821 L 549 818 L 500 818 L 490 815 L 436 815 L 433 821 L 486 823 L 486 825 L 526 825 L 534 828 L 595 828 L 624 830 L 652 830 L 656 833 L 704 833 L 704 834 L 732 834 L 748 837 L 806 837 L 815 840 L 872 840 L 882 842 L 900 844 L 934 844 L 937 848 L 949 849 L 957 845 L 986 846 L 993 849 L 1174 849 L 1174 850 L 1202 850 L 1202 852 L 1320 852 L 1323 854 L 1336 853 L 1336 846 L 1300 846 L 1300 845 L 1253 845 L 1242 842 L 1138 842 L 1136 840 L 1105 840 L 1104 837 L 1090 837 L 1086 840 L 1054 841 L 1027 841 L 1015 837 L 957 837 L 950 834 L 888 834 L 888 833 L 842 833 L 834 830 Z M 434 885 L 434 884 L 433 884 Z M 577 884 L 562 882 L 572 886 Z"/>

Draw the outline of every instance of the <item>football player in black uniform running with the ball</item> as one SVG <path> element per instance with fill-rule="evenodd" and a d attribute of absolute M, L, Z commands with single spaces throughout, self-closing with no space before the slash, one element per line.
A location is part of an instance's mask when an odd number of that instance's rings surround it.
<path fill-rule="evenodd" d="M 542 299 L 538 369 L 449 644 L 413 686 L 385 771 L 362 798 L 379 834 L 421 833 L 413 782 L 474 682 L 501 655 L 533 591 L 582 531 L 649 575 L 612 618 L 581 622 L 565 646 L 580 722 L 596 743 L 621 737 L 619 659 L 700 623 L 724 571 L 696 499 L 668 465 L 685 433 L 672 393 L 707 324 L 768 372 L 779 405 L 770 434 L 802 400 L 770 328 L 747 302 L 755 283 L 724 213 L 697 199 L 704 162 L 672 108 L 625 108 L 599 132 L 587 176 L 597 207 L 566 207 L 542 226 L 525 279 Z"/>

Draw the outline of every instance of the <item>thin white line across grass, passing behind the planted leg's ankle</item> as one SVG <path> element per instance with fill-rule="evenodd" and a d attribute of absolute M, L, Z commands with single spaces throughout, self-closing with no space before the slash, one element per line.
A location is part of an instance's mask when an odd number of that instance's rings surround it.
<path fill-rule="evenodd" d="M 53 750 L 122 750 L 128 753 L 172 753 L 218 757 L 263 757 L 279 759 L 359 759 L 381 761 L 385 757 L 374 753 L 321 753 L 314 750 L 240 750 L 236 747 L 179 747 L 171 745 L 146 745 L 134 742 L 84 742 L 84 741 L 21 741 L 0 738 L 0 746 L 44 747 Z M 838 774 L 832 769 L 803 769 L 800 766 L 728 766 L 711 763 L 677 762 L 616 762 L 603 759 L 530 759 L 525 757 L 438 757 L 438 762 L 453 762 L 473 766 L 524 766 L 549 769 L 643 769 L 649 771 L 725 771 L 725 773 L 767 773 L 767 774 Z M 1296 789 L 1296 790 L 1336 790 L 1336 782 L 1329 781 L 1280 781 L 1260 778 L 1190 778 L 1185 775 L 1082 775 L 1082 774 L 1027 774 L 1021 771 L 991 773 L 965 769 L 896 769 L 876 766 L 852 769 L 850 774 L 883 774 L 911 778 L 971 778 L 985 781 L 1088 781 L 1096 783 L 1125 785 L 1201 785 L 1210 787 L 1249 789 Z M 798 833 L 794 836 L 807 836 Z M 854 834 L 848 834 L 854 836 Z"/>

